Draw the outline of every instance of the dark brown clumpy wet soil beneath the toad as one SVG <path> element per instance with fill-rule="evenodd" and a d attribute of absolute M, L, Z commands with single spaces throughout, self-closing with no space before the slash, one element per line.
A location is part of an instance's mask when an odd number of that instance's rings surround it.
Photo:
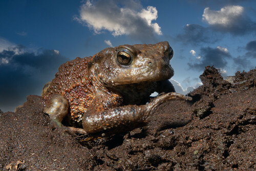
<path fill-rule="evenodd" d="M 168 101 L 147 126 L 89 142 L 42 112 L 0 111 L 0 170 L 256 170 L 256 70 L 234 84 L 206 67 L 193 101 Z"/>

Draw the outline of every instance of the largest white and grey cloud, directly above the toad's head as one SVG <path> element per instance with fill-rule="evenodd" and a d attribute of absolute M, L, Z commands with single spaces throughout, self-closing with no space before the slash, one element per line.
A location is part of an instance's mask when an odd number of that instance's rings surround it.
<path fill-rule="evenodd" d="M 148 6 L 144 9 L 137 1 L 118 4 L 114 0 L 88 0 L 81 5 L 79 13 L 75 19 L 93 29 L 96 34 L 108 30 L 113 36 L 130 35 L 141 41 L 162 35 L 160 26 L 153 23 L 158 17 L 156 7 Z"/>

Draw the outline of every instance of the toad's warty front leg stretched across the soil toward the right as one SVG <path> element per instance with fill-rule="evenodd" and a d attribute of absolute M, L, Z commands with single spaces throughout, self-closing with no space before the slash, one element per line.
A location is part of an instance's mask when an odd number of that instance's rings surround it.
<path fill-rule="evenodd" d="M 120 133 L 130 131 L 143 125 L 147 118 L 151 116 L 154 109 L 164 101 L 172 99 L 191 100 L 191 97 L 179 93 L 167 93 L 156 97 L 145 105 L 126 105 L 99 111 L 95 105 L 90 106 L 83 115 L 83 129 L 87 133 L 94 134 L 99 132 Z"/>

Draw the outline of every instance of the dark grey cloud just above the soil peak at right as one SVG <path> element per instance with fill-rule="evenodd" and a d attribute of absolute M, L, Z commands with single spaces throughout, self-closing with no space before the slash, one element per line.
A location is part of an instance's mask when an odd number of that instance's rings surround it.
<path fill-rule="evenodd" d="M 227 58 L 231 58 L 228 50 L 223 47 L 217 48 L 201 48 L 202 59 L 198 62 L 188 63 L 189 68 L 199 71 L 204 70 L 205 66 L 215 66 L 216 68 L 224 68 L 227 65 Z"/>

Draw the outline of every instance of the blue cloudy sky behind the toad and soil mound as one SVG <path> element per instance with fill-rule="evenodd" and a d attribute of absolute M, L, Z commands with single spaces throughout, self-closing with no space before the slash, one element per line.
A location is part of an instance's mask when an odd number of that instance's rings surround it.
<path fill-rule="evenodd" d="M 110 46 L 167 40 L 177 92 L 200 85 L 204 66 L 223 75 L 255 69 L 256 1 L 1 1 L 0 109 L 40 95 L 61 63 Z"/>

